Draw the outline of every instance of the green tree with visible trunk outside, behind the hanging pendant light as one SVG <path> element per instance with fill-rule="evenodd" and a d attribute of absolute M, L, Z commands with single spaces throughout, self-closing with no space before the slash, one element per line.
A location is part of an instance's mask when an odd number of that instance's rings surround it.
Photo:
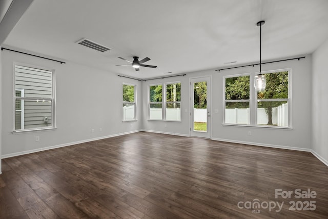
<path fill-rule="evenodd" d="M 258 99 L 288 98 L 288 71 L 265 74 L 265 90 L 257 93 Z M 272 108 L 280 106 L 281 101 L 258 102 L 258 108 L 265 108 L 268 114 L 268 124 L 272 124 Z"/>

